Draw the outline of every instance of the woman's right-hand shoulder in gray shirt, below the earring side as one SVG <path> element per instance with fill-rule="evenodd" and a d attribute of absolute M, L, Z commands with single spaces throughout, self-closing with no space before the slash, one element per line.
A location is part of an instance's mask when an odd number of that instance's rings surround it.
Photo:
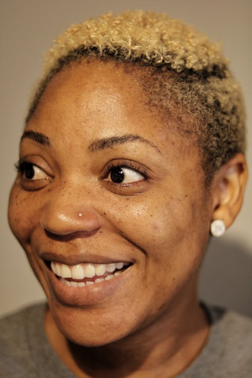
<path fill-rule="evenodd" d="M 250 378 L 252 319 L 217 306 L 202 307 L 211 324 L 208 340 L 179 378 Z"/>

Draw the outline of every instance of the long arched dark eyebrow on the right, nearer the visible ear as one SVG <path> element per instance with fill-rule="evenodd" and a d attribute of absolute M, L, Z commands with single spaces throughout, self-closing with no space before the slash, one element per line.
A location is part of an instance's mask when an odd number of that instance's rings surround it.
<path fill-rule="evenodd" d="M 125 134 L 120 137 L 97 139 L 89 145 L 88 149 L 92 152 L 99 151 L 99 150 L 104 150 L 106 148 L 113 148 L 115 146 L 119 146 L 124 143 L 135 142 L 135 141 L 148 144 L 149 146 L 154 148 L 158 153 L 161 154 L 160 149 L 155 144 L 148 141 L 147 139 L 144 139 L 140 135 L 135 135 L 135 134 Z"/>

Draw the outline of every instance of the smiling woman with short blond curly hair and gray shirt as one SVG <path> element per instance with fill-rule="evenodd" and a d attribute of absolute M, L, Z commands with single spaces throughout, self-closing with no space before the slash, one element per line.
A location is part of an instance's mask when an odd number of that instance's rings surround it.
<path fill-rule="evenodd" d="M 240 90 L 204 35 L 137 11 L 59 37 L 9 206 L 48 306 L 2 321 L 2 376 L 250 376 L 251 322 L 197 295 L 243 153 Z"/>

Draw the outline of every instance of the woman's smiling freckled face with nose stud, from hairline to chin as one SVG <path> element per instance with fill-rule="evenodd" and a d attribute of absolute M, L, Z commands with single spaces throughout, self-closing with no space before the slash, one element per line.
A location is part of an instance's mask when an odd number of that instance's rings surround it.
<path fill-rule="evenodd" d="M 10 225 L 55 323 L 83 345 L 197 301 L 211 221 L 201 158 L 147 103 L 121 65 L 74 64 L 47 85 L 21 141 Z"/>

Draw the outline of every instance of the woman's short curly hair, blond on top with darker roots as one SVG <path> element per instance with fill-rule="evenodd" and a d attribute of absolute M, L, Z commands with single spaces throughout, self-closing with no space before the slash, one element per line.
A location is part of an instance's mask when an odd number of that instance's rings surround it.
<path fill-rule="evenodd" d="M 222 164 L 244 153 L 239 85 L 220 44 L 193 27 L 153 12 L 108 13 L 71 26 L 54 42 L 26 121 L 50 79 L 63 67 L 84 58 L 112 59 L 126 70 L 138 66 L 142 75 L 137 80 L 150 105 L 159 107 L 163 117 L 175 119 L 182 134 L 197 137 L 207 183 Z"/>

